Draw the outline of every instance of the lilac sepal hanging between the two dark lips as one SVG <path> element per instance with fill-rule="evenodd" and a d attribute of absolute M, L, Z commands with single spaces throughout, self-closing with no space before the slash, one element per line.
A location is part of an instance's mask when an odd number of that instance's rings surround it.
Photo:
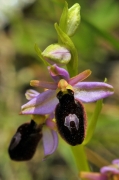
<path fill-rule="evenodd" d="M 44 156 L 51 155 L 57 149 L 58 135 L 57 132 L 49 128 L 43 128 L 43 147 Z"/>

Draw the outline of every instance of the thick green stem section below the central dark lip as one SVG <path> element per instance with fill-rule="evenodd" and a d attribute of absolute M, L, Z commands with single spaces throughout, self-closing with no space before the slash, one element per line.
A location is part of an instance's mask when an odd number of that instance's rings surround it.
<path fill-rule="evenodd" d="M 78 171 L 90 171 L 83 145 L 71 146 Z"/>

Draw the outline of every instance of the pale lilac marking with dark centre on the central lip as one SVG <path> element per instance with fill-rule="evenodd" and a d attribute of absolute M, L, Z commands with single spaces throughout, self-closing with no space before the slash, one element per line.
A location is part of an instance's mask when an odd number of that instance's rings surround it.
<path fill-rule="evenodd" d="M 75 114 L 69 114 L 65 117 L 64 125 L 72 131 L 73 129 L 79 129 L 79 119 Z"/>

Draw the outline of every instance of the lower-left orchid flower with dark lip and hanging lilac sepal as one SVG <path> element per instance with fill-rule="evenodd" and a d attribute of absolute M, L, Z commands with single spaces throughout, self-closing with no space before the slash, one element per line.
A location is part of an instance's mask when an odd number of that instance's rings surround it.
<path fill-rule="evenodd" d="M 20 125 L 13 135 L 8 148 L 10 158 L 14 161 L 30 160 L 42 138 L 43 159 L 46 159 L 58 146 L 58 135 L 54 129 L 55 123 L 51 115 L 33 115 L 31 121 Z"/>

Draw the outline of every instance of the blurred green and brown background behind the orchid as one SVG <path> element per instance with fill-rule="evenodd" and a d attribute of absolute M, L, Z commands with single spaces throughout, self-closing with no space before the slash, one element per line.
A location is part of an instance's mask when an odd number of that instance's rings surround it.
<path fill-rule="evenodd" d="M 57 151 L 42 161 L 42 142 L 29 162 L 13 162 L 7 149 L 17 127 L 30 120 L 20 116 L 31 79 L 48 80 L 35 43 L 44 50 L 57 42 L 54 23 L 64 0 L 0 0 L 0 180 L 77 180 L 70 147 L 60 140 Z M 91 69 L 88 81 L 104 81 L 115 94 L 104 100 L 95 134 L 86 147 L 94 171 L 119 157 L 119 1 L 67 0 L 81 5 L 81 23 L 72 38 L 79 52 L 79 72 Z M 41 91 L 42 89 L 37 89 Z M 85 105 L 88 121 L 95 104 Z M 79 154 L 80 159 L 80 154 Z"/>

